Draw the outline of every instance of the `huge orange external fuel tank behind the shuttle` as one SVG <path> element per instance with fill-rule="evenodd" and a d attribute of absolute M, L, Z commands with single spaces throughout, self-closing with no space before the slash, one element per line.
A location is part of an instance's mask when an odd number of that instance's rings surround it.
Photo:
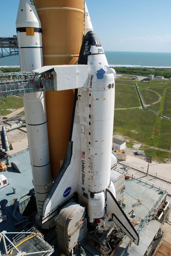
<path fill-rule="evenodd" d="M 34 0 L 42 23 L 43 63 L 77 64 L 84 33 L 84 0 Z M 46 92 L 48 140 L 52 176 L 65 159 L 74 90 Z"/>

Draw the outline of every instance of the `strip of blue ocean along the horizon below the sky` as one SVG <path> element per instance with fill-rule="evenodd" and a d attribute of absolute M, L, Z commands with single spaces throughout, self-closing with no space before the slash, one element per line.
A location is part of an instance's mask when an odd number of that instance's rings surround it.
<path fill-rule="evenodd" d="M 171 53 L 106 51 L 105 54 L 113 67 L 171 68 Z M 19 56 L 1 58 L 1 67 L 19 67 Z"/>

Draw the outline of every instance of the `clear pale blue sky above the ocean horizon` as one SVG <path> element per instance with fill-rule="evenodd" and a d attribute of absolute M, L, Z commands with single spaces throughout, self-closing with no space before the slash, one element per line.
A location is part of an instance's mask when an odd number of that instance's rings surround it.
<path fill-rule="evenodd" d="M 104 50 L 171 53 L 171 0 L 87 0 Z M 19 0 L 1 3 L 0 36 L 16 34 Z"/>

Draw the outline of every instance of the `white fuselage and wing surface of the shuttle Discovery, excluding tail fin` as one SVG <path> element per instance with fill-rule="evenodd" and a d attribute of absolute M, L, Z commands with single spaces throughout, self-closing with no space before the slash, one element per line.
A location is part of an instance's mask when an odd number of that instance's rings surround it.
<path fill-rule="evenodd" d="M 91 52 L 97 53 L 96 48 L 92 46 Z M 102 47 L 98 49 L 103 51 Z M 99 69 L 104 70 L 103 79 L 97 79 Z M 104 190 L 110 186 L 114 75 L 104 54 L 88 56 L 88 73 L 87 87 L 79 88 L 77 93 L 71 161 L 57 187 L 50 191 L 50 200 L 44 205 L 44 216 L 52 217 L 49 213 L 67 198 L 65 191 L 67 196 L 77 191 L 79 202 L 88 203 L 90 221 L 104 215 Z"/>

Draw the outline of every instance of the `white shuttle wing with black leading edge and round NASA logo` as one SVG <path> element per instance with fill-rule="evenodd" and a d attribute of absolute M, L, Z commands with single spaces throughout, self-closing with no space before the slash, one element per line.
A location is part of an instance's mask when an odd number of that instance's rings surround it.
<path fill-rule="evenodd" d="M 58 207 L 77 191 L 81 162 L 80 125 L 77 112 L 77 89 L 75 89 L 68 150 L 65 161 L 43 203 L 42 224 L 56 216 Z"/>

